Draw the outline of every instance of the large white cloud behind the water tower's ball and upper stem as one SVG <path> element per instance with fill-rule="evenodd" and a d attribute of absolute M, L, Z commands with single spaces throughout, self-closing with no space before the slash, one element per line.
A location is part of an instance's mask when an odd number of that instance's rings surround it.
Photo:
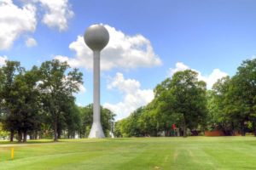
<path fill-rule="evenodd" d="M 140 34 L 131 37 L 111 26 L 105 25 L 105 27 L 110 39 L 108 46 L 102 51 L 101 68 L 103 71 L 113 68 L 132 69 L 161 65 L 160 58 L 154 54 L 153 47 L 146 37 Z M 69 45 L 69 48 L 76 53 L 75 58 L 62 57 L 61 59 L 65 59 L 73 67 L 92 69 L 92 52 L 85 45 L 84 37 L 79 36 Z"/>

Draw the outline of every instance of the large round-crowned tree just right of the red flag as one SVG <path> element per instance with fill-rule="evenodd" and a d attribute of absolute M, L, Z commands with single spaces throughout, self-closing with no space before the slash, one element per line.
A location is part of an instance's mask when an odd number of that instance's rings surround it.
<path fill-rule="evenodd" d="M 172 77 L 172 107 L 182 117 L 183 137 L 187 136 L 187 127 L 203 124 L 207 116 L 207 84 L 197 77 L 198 73 L 191 70 L 178 71 Z"/>

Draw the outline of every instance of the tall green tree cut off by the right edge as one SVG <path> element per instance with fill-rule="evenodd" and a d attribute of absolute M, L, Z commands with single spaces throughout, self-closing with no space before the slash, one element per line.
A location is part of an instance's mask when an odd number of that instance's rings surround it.
<path fill-rule="evenodd" d="M 245 135 L 248 122 L 253 122 L 256 136 L 256 59 L 245 60 L 232 77 L 229 92 L 229 110 L 239 121 L 241 134 Z"/>

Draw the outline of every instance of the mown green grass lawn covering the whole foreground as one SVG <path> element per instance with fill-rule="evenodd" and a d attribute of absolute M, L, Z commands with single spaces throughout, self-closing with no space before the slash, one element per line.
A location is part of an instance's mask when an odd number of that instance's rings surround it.
<path fill-rule="evenodd" d="M 255 137 L 0 142 L 0 169 L 256 169 Z M 10 148 L 15 159 L 10 159 Z"/>

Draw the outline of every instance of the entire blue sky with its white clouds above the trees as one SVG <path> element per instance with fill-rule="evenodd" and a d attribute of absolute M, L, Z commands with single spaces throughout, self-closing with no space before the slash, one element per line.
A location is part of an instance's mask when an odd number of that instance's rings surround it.
<path fill-rule="evenodd" d="M 198 71 L 208 88 L 234 75 L 256 54 L 255 8 L 254 0 L 0 0 L 0 62 L 30 69 L 67 60 L 84 73 L 77 104 L 90 104 L 91 58 L 81 36 L 102 23 L 112 36 L 102 51 L 102 105 L 119 119 L 175 71 Z"/>

